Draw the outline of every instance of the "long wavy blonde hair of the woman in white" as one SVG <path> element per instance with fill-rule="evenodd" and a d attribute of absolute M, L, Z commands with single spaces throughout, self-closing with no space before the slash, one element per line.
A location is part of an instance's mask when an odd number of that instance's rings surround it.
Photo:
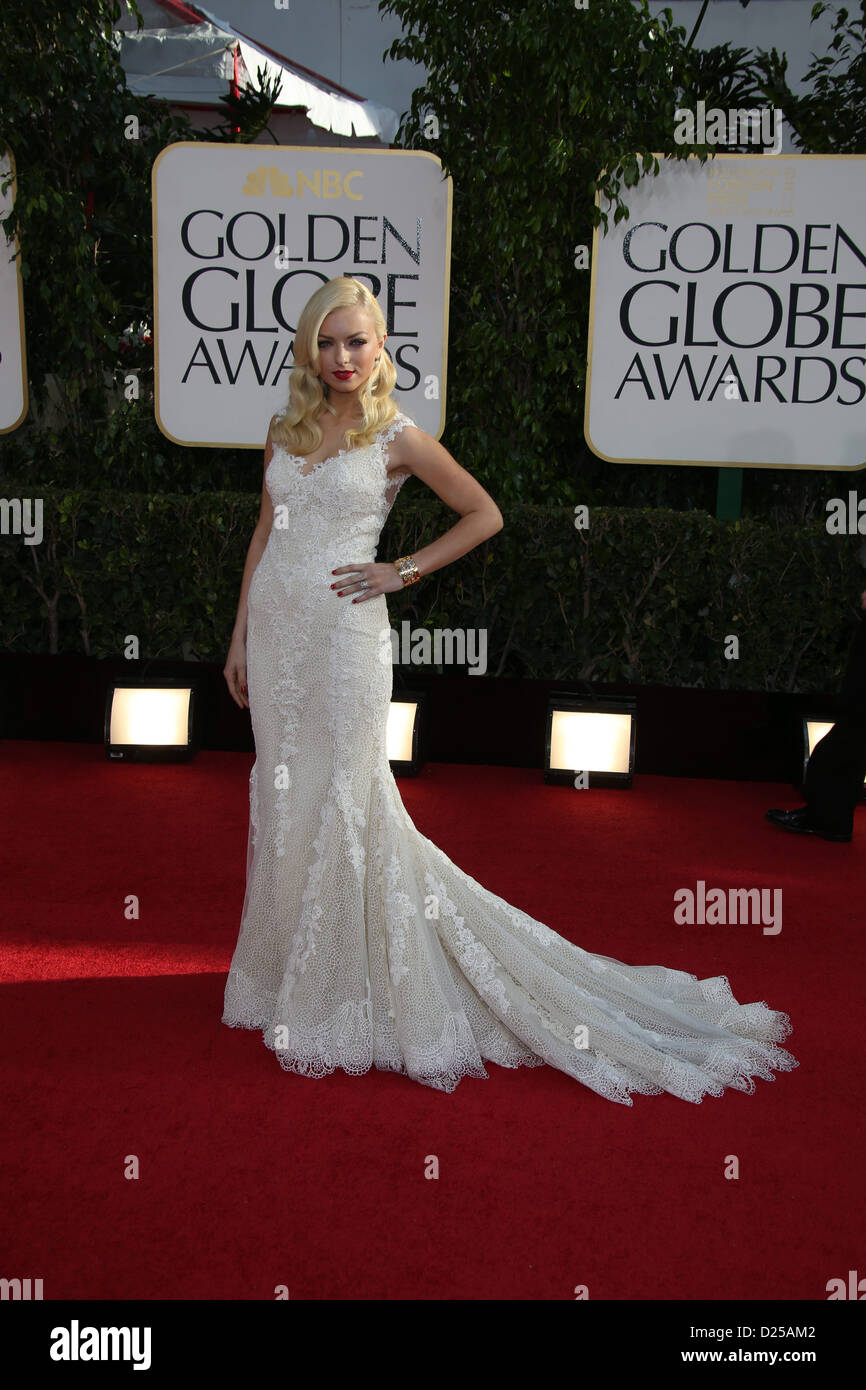
<path fill-rule="evenodd" d="M 335 309 L 363 309 L 373 320 L 377 341 L 385 332 L 385 317 L 375 295 L 353 275 L 338 275 L 310 295 L 295 334 L 295 367 L 289 377 L 289 400 L 271 425 L 274 443 L 300 457 L 314 453 L 322 442 L 320 417 L 325 411 L 335 414 L 328 403 L 328 386 L 322 385 L 318 377 L 318 334 L 322 320 Z M 371 443 L 373 436 L 393 420 L 398 407 L 391 399 L 391 392 L 396 378 L 396 368 L 382 346 L 378 366 L 373 368 L 361 388 L 360 404 L 364 418 L 357 427 L 346 430 L 346 449 Z"/>

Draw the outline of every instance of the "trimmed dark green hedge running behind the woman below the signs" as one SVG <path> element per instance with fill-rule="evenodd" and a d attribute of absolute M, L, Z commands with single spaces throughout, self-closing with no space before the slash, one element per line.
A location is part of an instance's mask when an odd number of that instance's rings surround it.
<path fill-rule="evenodd" d="M 388 520 L 379 559 L 441 535 L 455 513 L 413 496 Z M 0 538 L 0 646 L 222 662 L 252 493 L 44 489 L 43 541 Z M 7 492 L 8 496 L 8 492 Z M 706 512 L 516 503 L 505 528 L 455 564 L 389 595 L 392 624 L 487 628 L 488 674 L 710 689 L 831 689 L 865 585 L 858 537 L 820 523 L 717 521 Z M 728 634 L 740 657 L 727 660 Z M 189 651 L 188 648 L 188 651 Z"/>

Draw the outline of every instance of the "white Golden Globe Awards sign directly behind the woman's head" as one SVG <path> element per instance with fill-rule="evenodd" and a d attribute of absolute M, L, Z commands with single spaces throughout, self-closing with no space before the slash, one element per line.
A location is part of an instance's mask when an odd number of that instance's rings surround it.
<path fill-rule="evenodd" d="M 153 165 L 156 418 L 188 445 L 260 449 L 300 311 L 354 275 L 375 295 L 395 400 L 445 425 L 452 181 L 418 150 L 179 143 Z"/>

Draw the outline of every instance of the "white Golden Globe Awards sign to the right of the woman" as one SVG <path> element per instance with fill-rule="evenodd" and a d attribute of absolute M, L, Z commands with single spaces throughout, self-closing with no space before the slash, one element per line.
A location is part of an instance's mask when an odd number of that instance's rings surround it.
<path fill-rule="evenodd" d="M 866 156 L 660 158 L 592 245 L 585 436 L 616 463 L 866 464 Z"/>

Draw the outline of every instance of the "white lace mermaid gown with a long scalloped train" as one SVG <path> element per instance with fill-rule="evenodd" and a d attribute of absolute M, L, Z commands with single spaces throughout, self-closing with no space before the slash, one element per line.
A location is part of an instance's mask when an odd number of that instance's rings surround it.
<path fill-rule="evenodd" d="M 256 739 L 246 892 L 222 1022 L 261 1029 L 282 1068 L 400 1072 L 453 1091 L 485 1062 L 548 1062 L 599 1095 L 753 1091 L 798 1063 L 787 1015 L 698 980 L 581 951 L 423 835 L 391 773 L 384 596 L 331 571 L 377 556 L 403 478 L 405 414 L 373 443 L 306 460 L 275 448 L 275 524 L 247 602 Z M 382 656 L 386 659 L 384 660 Z"/>

